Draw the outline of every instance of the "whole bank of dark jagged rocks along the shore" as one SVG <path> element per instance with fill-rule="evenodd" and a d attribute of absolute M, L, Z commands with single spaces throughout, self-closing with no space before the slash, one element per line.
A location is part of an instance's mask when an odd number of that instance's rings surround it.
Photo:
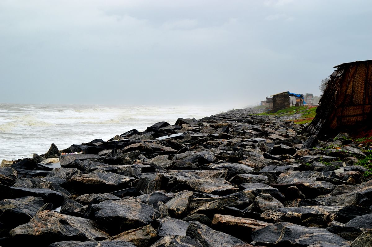
<path fill-rule="evenodd" d="M 253 113 L 4 161 L 0 246 L 372 246 L 360 144 Z"/>

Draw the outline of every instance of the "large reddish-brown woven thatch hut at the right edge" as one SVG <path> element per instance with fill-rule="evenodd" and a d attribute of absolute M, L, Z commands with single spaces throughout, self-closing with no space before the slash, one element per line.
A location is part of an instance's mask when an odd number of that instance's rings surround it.
<path fill-rule="evenodd" d="M 333 137 L 340 132 L 371 136 L 372 60 L 334 68 L 307 131 L 318 137 Z"/>

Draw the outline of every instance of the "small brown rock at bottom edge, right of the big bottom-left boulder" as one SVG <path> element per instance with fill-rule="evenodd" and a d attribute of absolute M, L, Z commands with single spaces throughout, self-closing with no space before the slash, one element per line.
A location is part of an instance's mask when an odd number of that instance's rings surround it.
<path fill-rule="evenodd" d="M 137 247 L 146 247 L 154 243 L 157 238 L 157 231 L 150 225 L 125 231 L 112 237 L 114 240 L 122 240 L 133 243 Z"/>

